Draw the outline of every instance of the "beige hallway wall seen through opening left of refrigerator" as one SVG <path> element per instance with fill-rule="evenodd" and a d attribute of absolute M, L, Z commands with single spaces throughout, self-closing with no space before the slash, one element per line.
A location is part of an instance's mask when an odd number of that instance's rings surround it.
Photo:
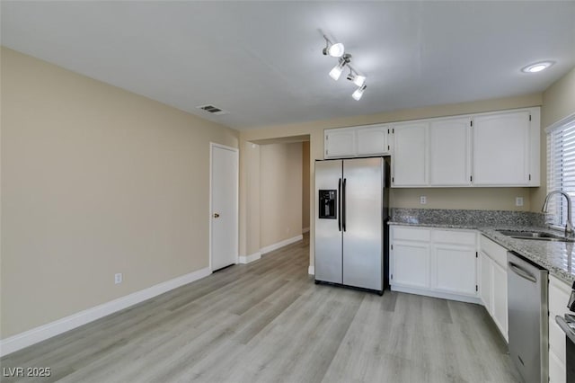
<path fill-rule="evenodd" d="M 261 145 L 261 247 L 302 234 L 302 143 Z"/>

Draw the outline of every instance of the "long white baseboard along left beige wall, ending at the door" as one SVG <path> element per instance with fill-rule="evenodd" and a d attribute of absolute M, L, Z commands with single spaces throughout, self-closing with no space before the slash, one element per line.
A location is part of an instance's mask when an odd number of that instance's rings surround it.
<path fill-rule="evenodd" d="M 190 272 L 189 274 L 182 275 L 181 277 L 174 278 L 170 281 L 158 283 L 147 289 L 142 289 L 129 294 L 125 297 L 111 300 L 110 302 L 103 303 L 96 307 L 88 308 L 79 313 L 71 316 L 66 316 L 57 321 L 51 322 L 47 325 L 40 325 L 39 327 L 32 328 L 21 334 L 15 334 L 8 338 L 0 340 L 0 356 L 8 355 L 12 352 L 17 352 L 24 347 L 31 346 L 32 344 L 42 342 L 57 334 L 65 333 L 75 327 L 85 325 L 93 322 L 103 316 L 108 316 L 124 308 L 134 306 L 137 303 L 143 302 L 146 299 L 154 298 L 171 289 L 179 288 L 185 284 L 193 281 L 198 281 L 207 277 L 211 272 L 209 268 L 201 269 L 197 272 Z"/>

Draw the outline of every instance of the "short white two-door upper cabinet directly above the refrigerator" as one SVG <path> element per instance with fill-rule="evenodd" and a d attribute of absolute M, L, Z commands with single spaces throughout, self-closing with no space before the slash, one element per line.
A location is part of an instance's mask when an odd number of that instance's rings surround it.
<path fill-rule="evenodd" d="M 323 133 L 325 158 L 389 154 L 388 128 L 385 125 L 325 129 Z"/>

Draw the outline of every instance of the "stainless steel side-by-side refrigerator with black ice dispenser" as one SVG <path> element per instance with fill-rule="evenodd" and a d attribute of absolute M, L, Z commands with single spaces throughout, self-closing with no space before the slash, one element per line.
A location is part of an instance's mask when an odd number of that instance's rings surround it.
<path fill-rule="evenodd" d="M 389 286 L 387 158 L 315 162 L 316 283 Z"/>

